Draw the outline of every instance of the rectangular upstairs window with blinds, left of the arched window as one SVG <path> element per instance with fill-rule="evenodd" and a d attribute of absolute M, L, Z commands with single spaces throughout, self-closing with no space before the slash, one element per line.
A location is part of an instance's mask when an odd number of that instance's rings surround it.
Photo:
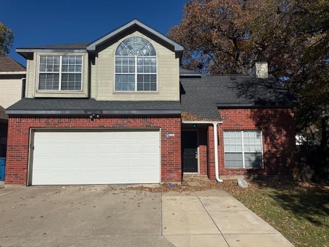
<path fill-rule="evenodd" d="M 82 56 L 40 56 L 40 91 L 81 91 Z"/>

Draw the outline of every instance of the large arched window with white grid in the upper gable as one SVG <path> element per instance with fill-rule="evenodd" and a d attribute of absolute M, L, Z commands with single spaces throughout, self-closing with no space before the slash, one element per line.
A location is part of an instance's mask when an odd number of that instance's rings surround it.
<path fill-rule="evenodd" d="M 156 51 L 150 41 L 127 38 L 115 51 L 115 91 L 157 91 Z"/>

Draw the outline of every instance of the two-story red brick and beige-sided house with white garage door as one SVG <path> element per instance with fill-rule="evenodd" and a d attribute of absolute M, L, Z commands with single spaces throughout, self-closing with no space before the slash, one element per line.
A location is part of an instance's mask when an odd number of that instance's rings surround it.
<path fill-rule="evenodd" d="M 27 80 L 6 110 L 6 184 L 290 174 L 294 100 L 267 63 L 251 75 L 179 69 L 184 48 L 138 20 L 91 43 L 16 51 Z"/>

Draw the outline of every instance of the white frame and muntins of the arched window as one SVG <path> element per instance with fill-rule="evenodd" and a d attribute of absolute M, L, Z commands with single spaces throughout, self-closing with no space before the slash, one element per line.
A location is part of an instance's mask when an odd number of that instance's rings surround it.
<path fill-rule="evenodd" d="M 135 37 L 135 36 L 134 36 Z M 137 36 L 136 36 L 137 37 Z M 128 38 L 132 38 L 132 37 L 128 37 Z M 128 39 L 127 38 L 127 39 Z M 143 37 L 141 37 L 141 38 L 143 38 Z M 143 39 L 145 39 L 145 38 L 143 38 Z M 125 40 L 125 39 L 124 39 Z M 122 40 L 119 44 L 118 44 L 118 46 L 124 41 L 124 40 Z M 149 41 L 149 40 L 148 40 Z M 122 43 L 123 44 L 123 43 Z M 155 56 L 117 56 L 117 55 L 115 55 L 114 56 L 114 92 L 116 92 L 116 93 L 157 93 L 158 92 L 158 53 L 157 53 L 157 51 L 156 51 L 156 49 L 155 49 L 155 47 L 154 47 L 154 45 L 149 41 L 149 44 L 151 44 L 152 46 L 153 46 L 153 48 L 154 48 L 154 50 L 155 50 Z M 148 45 L 149 45 L 148 44 Z M 125 47 L 126 47 L 126 45 L 125 44 L 123 44 Z M 117 48 L 118 48 L 118 46 L 117 46 Z M 117 48 L 115 49 L 115 51 L 114 52 L 116 52 L 116 50 L 117 50 Z M 126 47 L 127 48 L 127 47 Z M 117 73 L 116 71 L 115 71 L 115 66 L 116 66 L 116 58 L 132 58 L 132 57 L 135 57 L 135 73 Z M 137 73 L 137 58 L 155 58 L 156 59 L 156 73 Z M 151 61 L 151 60 L 150 60 Z M 151 62 L 150 62 L 151 63 Z M 150 64 L 151 65 L 151 64 Z M 135 90 L 134 91 L 117 91 L 116 90 L 116 75 L 135 75 Z M 154 90 L 154 91 L 140 91 L 140 90 L 137 90 L 137 75 L 155 75 L 156 76 L 156 90 Z"/>

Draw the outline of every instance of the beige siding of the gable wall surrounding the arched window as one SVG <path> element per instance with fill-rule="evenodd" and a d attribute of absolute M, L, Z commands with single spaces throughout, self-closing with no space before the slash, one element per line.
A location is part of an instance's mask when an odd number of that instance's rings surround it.
<path fill-rule="evenodd" d="M 157 52 L 158 92 L 114 92 L 115 49 L 128 37 L 143 37 L 154 45 Z M 97 58 L 97 100 L 179 100 L 179 59 L 175 52 L 136 31 L 99 51 Z"/>

